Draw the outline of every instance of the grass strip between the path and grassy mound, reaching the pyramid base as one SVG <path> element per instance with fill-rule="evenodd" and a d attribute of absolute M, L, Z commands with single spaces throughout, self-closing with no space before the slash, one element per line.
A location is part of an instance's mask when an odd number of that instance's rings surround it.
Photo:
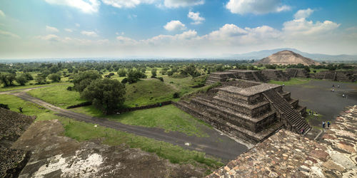
<path fill-rule="evenodd" d="M 186 135 L 196 135 L 197 137 L 208 136 L 202 130 L 203 125 L 211 127 L 191 115 L 188 115 L 186 112 L 179 110 L 174 105 L 124 112 L 121 115 L 102 115 L 101 112 L 96 110 L 93 106 L 74 108 L 71 110 L 94 117 L 106 117 L 110 120 L 122 122 L 127 125 L 157 127 L 162 128 L 167 132 L 178 131 L 183 132 Z"/>

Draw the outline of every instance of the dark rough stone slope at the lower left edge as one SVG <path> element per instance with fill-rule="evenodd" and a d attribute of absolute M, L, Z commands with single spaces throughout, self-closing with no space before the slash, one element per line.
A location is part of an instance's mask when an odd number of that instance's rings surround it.
<path fill-rule="evenodd" d="M 34 119 L 0 108 L 0 177 L 18 177 L 29 159 L 29 152 L 12 149 L 11 146 Z"/>

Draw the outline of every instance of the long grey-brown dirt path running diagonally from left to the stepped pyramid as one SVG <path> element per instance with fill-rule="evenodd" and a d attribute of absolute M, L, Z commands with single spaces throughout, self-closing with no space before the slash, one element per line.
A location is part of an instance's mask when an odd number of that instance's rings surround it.
<path fill-rule="evenodd" d="M 94 123 L 96 125 L 101 125 L 104 127 L 110 127 L 124 132 L 130 132 L 135 135 L 154 138 L 155 140 L 169 142 L 174 145 L 185 147 L 189 150 L 206 152 L 207 155 L 221 158 L 223 162 L 227 162 L 228 160 L 234 159 L 241 153 L 246 152 L 246 150 L 248 150 L 245 145 L 231 140 L 231 138 L 226 135 L 222 135 L 216 130 L 208 129 L 208 127 L 204 131 L 209 135 L 209 137 L 188 136 L 181 132 L 165 132 L 163 129 L 160 128 L 124 125 L 120 122 L 107 120 L 106 118 L 91 117 L 89 115 L 72 112 L 70 110 L 64 110 L 62 108 L 46 103 L 43 100 L 34 98 L 28 95 L 25 91 L 11 94 L 16 95 L 23 100 L 28 100 L 32 103 L 44 106 L 44 108 L 47 108 L 54 112 L 58 112 L 57 115 L 73 118 L 74 120 Z M 185 143 L 187 142 L 190 143 L 190 146 L 185 145 Z"/>

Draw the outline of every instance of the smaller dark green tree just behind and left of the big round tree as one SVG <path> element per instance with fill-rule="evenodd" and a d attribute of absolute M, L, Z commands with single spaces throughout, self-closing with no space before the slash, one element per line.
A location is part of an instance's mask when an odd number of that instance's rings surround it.
<path fill-rule="evenodd" d="M 74 90 L 82 92 L 93 80 L 98 78 L 101 78 L 101 75 L 96 70 L 81 72 L 73 79 Z"/>

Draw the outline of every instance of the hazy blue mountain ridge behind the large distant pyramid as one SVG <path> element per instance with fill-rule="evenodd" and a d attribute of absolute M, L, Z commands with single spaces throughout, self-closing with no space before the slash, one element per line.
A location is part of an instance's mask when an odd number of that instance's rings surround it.
<path fill-rule="evenodd" d="M 311 58 L 316 61 L 357 61 L 357 56 L 354 55 L 327 55 L 320 53 L 305 53 L 302 51 L 298 51 L 294 48 L 277 48 L 272 50 L 254 51 L 251 53 L 233 54 L 230 56 L 230 58 L 261 59 L 266 58 L 267 56 L 271 56 L 271 54 L 273 53 L 285 50 L 293 51 L 294 53 L 299 53 L 301 54 L 301 56 L 305 56 L 306 58 Z"/>

